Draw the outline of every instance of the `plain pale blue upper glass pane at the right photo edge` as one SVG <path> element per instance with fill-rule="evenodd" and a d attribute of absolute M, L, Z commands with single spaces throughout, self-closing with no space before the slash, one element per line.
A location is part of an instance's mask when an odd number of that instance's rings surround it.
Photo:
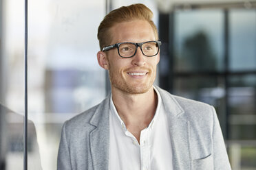
<path fill-rule="evenodd" d="M 232 71 L 256 69 L 256 11 L 230 12 L 230 63 Z M 246 60 L 245 60 L 246 59 Z"/>

